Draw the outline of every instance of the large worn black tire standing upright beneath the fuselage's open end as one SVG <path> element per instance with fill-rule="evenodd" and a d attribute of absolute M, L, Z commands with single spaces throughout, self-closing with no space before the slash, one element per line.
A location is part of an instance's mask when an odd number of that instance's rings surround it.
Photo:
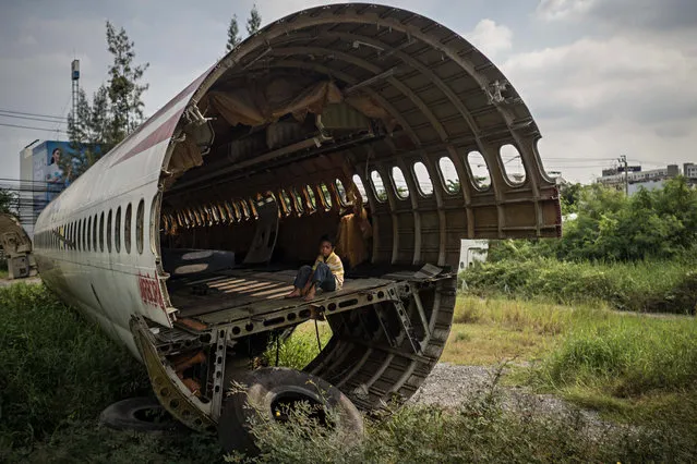
<path fill-rule="evenodd" d="M 218 422 L 218 438 L 227 452 L 257 454 L 260 450 L 250 420 L 259 418 L 257 414 L 264 415 L 262 420 L 274 420 L 279 405 L 298 400 L 321 406 L 323 412 L 337 413 L 334 429 L 347 445 L 363 435 L 363 418 L 353 403 L 319 377 L 286 367 L 265 367 L 247 373 L 238 381 L 245 386 L 245 392 L 236 392 L 226 399 Z"/>

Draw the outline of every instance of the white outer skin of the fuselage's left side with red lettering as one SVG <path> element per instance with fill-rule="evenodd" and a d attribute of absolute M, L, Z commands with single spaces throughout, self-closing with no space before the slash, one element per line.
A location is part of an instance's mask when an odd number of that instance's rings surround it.
<path fill-rule="evenodd" d="M 36 222 L 34 254 L 41 280 L 139 358 L 129 329 L 132 315 L 142 315 L 165 327 L 172 326 L 176 309 L 170 307 L 167 290 L 158 279 L 161 274 L 161 270 L 158 271 L 158 184 L 177 122 L 209 71 L 82 174 L 44 209 Z M 136 221 L 141 200 L 144 203 L 143 246 L 139 253 Z M 131 223 L 127 228 L 129 205 Z M 119 208 L 120 228 L 116 231 Z M 104 228 L 97 229 L 97 246 L 93 243 L 96 223 L 92 224 L 88 237 L 91 246 L 83 246 L 87 239 L 87 221 L 95 222 L 95 217 L 100 221 L 103 213 Z M 79 234 L 79 228 L 73 225 L 80 221 L 84 227 Z M 80 246 L 63 245 L 56 239 L 53 232 L 65 234 L 68 225 L 73 230 L 68 237 L 75 237 Z M 125 246 L 127 230 L 131 234 L 130 252 Z"/>

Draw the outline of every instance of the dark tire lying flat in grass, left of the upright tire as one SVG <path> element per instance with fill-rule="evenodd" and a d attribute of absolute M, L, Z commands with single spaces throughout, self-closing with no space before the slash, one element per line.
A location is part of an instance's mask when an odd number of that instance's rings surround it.
<path fill-rule="evenodd" d="M 129 398 L 109 405 L 99 423 L 117 430 L 170 431 L 179 427 L 155 398 Z"/>

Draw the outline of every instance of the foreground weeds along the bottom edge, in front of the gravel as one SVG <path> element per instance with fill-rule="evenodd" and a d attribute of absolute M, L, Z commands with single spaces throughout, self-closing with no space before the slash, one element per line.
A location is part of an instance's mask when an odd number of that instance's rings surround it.
<path fill-rule="evenodd" d="M 520 400 L 524 402 L 525 400 Z M 529 404 L 527 406 L 530 406 Z M 592 425 L 579 413 L 546 416 L 533 407 L 504 407 L 495 386 L 471 401 L 445 410 L 408 406 L 387 418 L 366 418 L 363 440 L 347 444 L 314 427 L 299 412 L 286 424 L 254 426 L 262 455 L 236 454 L 227 462 L 397 463 L 397 462 L 617 462 L 665 461 L 694 456 L 689 443 L 675 448 L 675 430 L 613 430 Z M 669 444 L 670 443 L 670 444 Z"/>

